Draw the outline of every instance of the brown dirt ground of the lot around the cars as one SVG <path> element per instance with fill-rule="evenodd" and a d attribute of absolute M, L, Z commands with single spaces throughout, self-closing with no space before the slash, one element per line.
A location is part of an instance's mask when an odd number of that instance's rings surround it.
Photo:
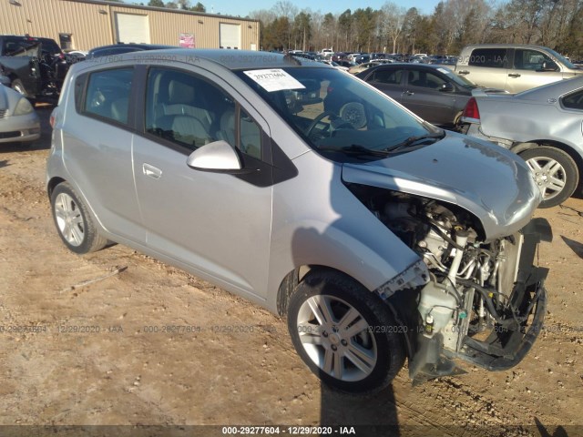
<path fill-rule="evenodd" d="M 124 246 L 68 251 L 44 188 L 50 110 L 37 107 L 44 134 L 36 145 L 0 147 L 0 425 L 583 435 L 580 198 L 537 213 L 554 232 L 539 250 L 550 268 L 548 312 L 524 361 L 502 372 L 465 365 L 465 375 L 418 387 L 404 369 L 391 390 L 359 399 L 322 387 L 293 350 L 285 321 L 267 311 Z M 356 432 L 373 435 L 367 430 Z"/>

